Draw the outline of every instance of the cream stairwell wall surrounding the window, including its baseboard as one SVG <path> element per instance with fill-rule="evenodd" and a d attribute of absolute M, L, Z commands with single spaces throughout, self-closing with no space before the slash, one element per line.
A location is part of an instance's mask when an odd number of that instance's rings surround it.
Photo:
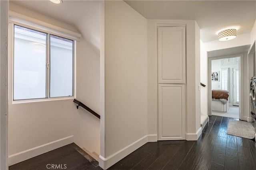
<path fill-rule="evenodd" d="M 100 4 L 97 4 L 94 17 L 95 22 L 100 22 Z M 68 25 L 14 4 L 10 4 L 10 10 L 71 31 L 77 28 L 81 31 L 82 38 L 76 44 L 76 98 L 99 113 L 100 59 L 83 38 L 87 31 L 84 25 L 88 26 L 86 19 Z M 94 32 L 99 34 L 99 23 L 96 28 Z M 9 86 L 9 165 L 72 142 L 100 153 L 100 120 L 81 107 L 76 109 L 73 99 L 12 104 L 11 92 Z"/>

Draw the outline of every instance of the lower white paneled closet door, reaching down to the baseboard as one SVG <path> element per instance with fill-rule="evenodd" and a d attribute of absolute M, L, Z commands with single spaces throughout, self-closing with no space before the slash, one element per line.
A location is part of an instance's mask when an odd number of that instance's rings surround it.
<path fill-rule="evenodd" d="M 158 84 L 158 140 L 185 139 L 185 85 Z"/>

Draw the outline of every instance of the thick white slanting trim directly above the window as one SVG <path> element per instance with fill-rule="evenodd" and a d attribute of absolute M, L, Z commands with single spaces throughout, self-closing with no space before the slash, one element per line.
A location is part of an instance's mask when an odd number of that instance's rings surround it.
<path fill-rule="evenodd" d="M 14 11 L 9 11 L 9 21 L 12 23 L 22 23 L 21 26 L 30 25 L 40 30 L 46 30 L 52 34 L 62 36 L 65 38 L 69 38 L 72 40 L 79 41 L 82 35 L 78 32 L 70 31 L 68 29 L 64 29 L 62 27 L 58 27 L 56 25 L 52 25 L 50 23 L 46 23 L 44 21 L 37 20 L 35 18 L 31 18 L 29 16 L 25 16 L 23 14 L 19 14 Z"/>

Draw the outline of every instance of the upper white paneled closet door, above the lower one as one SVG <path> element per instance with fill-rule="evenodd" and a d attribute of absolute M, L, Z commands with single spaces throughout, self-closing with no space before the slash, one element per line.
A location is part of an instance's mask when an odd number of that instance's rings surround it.
<path fill-rule="evenodd" d="M 185 27 L 158 27 L 158 83 L 184 84 Z"/>

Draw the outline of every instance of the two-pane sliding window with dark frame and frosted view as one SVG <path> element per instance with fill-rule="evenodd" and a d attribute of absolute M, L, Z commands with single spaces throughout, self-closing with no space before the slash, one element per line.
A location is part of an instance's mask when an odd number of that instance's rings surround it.
<path fill-rule="evenodd" d="M 14 100 L 73 96 L 74 41 L 14 25 Z"/>

